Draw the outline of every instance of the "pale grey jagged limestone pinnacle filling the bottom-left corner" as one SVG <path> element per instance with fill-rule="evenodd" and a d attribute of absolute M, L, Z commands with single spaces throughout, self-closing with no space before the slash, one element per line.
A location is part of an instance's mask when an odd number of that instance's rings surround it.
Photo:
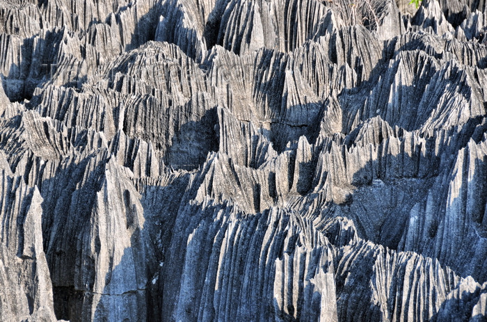
<path fill-rule="evenodd" d="M 3 156 L 1 156 L 3 158 Z M 42 250 L 42 197 L 37 187 L 1 170 L 0 315 L 3 321 L 56 321 Z"/>

